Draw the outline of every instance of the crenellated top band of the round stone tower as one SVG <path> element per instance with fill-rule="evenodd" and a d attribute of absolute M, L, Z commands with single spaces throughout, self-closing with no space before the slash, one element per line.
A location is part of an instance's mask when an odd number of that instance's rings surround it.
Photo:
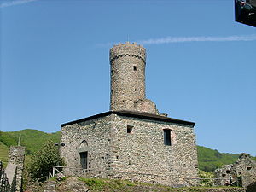
<path fill-rule="evenodd" d="M 125 44 L 113 45 L 113 48 L 110 49 L 109 53 L 110 63 L 123 56 L 137 57 L 146 63 L 146 49 L 137 43 L 130 44 L 129 42 L 126 42 Z"/>

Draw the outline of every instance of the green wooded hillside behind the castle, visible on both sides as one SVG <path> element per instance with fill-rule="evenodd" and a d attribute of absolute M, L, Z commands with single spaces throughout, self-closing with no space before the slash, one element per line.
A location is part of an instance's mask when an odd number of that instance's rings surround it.
<path fill-rule="evenodd" d="M 0 132 L 0 160 L 6 163 L 8 158 L 8 148 L 11 145 L 17 145 L 21 134 L 20 145 L 26 146 L 26 155 L 33 154 L 47 140 L 55 143 L 59 142 L 61 132 L 45 133 L 38 130 L 21 130 L 13 132 Z M 203 171 L 212 172 L 218 167 L 234 163 L 239 154 L 219 153 L 218 150 L 197 146 L 199 168 Z M 255 157 L 253 157 L 256 160 Z"/>

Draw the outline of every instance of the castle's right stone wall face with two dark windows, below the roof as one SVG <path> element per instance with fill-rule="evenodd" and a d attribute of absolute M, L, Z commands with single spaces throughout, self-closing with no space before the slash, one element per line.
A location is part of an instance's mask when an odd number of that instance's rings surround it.
<path fill-rule="evenodd" d="M 172 130 L 171 146 L 164 144 L 164 129 Z M 114 115 L 113 132 L 112 166 L 118 177 L 167 185 L 197 177 L 193 127 Z"/>

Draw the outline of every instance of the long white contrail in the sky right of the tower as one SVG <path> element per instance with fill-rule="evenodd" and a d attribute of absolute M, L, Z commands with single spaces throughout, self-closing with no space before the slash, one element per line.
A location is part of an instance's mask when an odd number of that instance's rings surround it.
<path fill-rule="evenodd" d="M 255 41 L 256 34 L 244 36 L 226 36 L 226 37 L 166 37 L 150 38 L 148 40 L 139 40 L 137 44 L 172 44 L 185 42 L 227 42 L 227 41 Z"/>

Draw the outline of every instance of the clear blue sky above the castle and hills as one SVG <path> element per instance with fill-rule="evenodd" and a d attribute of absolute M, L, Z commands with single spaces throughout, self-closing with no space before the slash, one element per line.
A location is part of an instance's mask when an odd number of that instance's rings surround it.
<path fill-rule="evenodd" d="M 147 97 L 197 144 L 256 155 L 256 28 L 232 0 L 0 0 L 2 131 L 60 131 L 109 109 L 108 51 L 147 49 Z"/>

